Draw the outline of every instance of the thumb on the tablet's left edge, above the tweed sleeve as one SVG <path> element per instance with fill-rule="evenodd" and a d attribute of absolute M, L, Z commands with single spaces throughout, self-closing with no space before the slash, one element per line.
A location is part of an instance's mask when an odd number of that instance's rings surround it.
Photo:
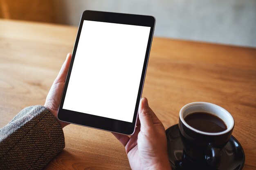
<path fill-rule="evenodd" d="M 70 61 L 71 61 L 71 53 L 68 53 L 67 54 L 67 57 L 66 57 L 66 60 L 65 62 L 62 64 L 61 66 L 61 70 L 60 72 L 58 73 L 58 76 L 56 77 L 55 79 L 55 83 L 58 83 L 58 82 L 65 82 L 66 80 L 66 77 L 67 77 L 67 71 L 68 71 L 68 68 L 70 66 Z"/>

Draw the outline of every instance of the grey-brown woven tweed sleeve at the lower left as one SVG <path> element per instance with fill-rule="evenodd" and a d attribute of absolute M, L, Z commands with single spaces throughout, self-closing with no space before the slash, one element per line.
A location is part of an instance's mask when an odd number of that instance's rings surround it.
<path fill-rule="evenodd" d="M 61 125 L 44 106 L 30 106 L 0 129 L 0 170 L 40 170 L 65 147 Z"/>

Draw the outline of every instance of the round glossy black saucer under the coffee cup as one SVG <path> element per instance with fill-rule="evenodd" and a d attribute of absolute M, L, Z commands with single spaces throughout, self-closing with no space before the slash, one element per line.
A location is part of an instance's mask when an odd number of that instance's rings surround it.
<path fill-rule="evenodd" d="M 231 136 L 226 146 L 221 151 L 221 166 L 218 169 L 195 163 L 183 152 L 178 124 L 166 131 L 168 142 L 168 157 L 173 170 L 242 170 L 245 163 L 245 153 L 234 136 Z"/>

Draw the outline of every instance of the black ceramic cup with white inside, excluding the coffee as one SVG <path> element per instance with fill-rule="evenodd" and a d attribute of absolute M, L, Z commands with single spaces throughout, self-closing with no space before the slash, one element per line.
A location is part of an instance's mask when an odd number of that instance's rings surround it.
<path fill-rule="evenodd" d="M 194 112 L 207 112 L 218 116 L 227 125 L 222 132 L 203 132 L 186 123 L 184 118 Z M 220 166 L 220 150 L 227 144 L 234 129 L 234 118 L 224 108 L 207 102 L 193 102 L 180 110 L 179 129 L 185 154 L 195 162 L 214 168 Z"/>

